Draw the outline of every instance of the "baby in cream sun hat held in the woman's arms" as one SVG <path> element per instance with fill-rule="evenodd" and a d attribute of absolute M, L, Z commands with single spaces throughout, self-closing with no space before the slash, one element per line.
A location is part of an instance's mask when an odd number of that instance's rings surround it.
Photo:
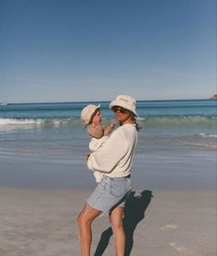
<path fill-rule="evenodd" d="M 89 149 L 94 152 L 102 146 L 108 139 L 109 133 L 113 130 L 116 122 L 111 122 L 109 126 L 102 124 L 102 116 L 100 113 L 100 105 L 87 105 L 81 112 L 81 119 L 84 122 L 87 133 L 90 136 Z M 97 183 L 100 183 L 104 177 L 104 173 L 95 170 L 94 176 Z"/>

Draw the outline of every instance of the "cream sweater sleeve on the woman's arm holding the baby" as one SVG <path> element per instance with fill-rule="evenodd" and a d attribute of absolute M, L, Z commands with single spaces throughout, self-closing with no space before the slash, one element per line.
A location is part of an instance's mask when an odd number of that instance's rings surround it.
<path fill-rule="evenodd" d="M 118 165 L 122 157 L 128 152 L 129 145 L 125 135 L 120 131 L 114 131 L 107 142 L 96 152 L 92 153 L 87 161 L 88 169 L 101 172 L 111 172 Z"/>

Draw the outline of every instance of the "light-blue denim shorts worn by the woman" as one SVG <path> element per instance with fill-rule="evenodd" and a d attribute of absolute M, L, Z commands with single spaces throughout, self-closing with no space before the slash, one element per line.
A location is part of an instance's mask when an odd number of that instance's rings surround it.
<path fill-rule="evenodd" d="M 86 203 L 103 214 L 109 214 L 116 206 L 124 207 L 129 192 L 131 192 L 130 177 L 105 176 L 87 198 Z"/>

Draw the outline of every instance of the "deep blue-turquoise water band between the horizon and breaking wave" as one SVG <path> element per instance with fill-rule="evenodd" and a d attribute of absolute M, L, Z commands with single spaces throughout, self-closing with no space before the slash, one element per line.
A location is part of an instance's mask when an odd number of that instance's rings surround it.
<path fill-rule="evenodd" d="M 9 104 L 0 106 L 0 118 L 11 119 L 62 119 L 80 117 L 81 110 L 87 104 L 99 102 L 72 103 L 38 103 L 38 104 Z M 104 116 L 111 117 L 109 102 L 100 102 Z M 206 116 L 216 117 L 217 102 L 210 99 L 195 100 L 154 100 L 137 102 L 137 111 L 141 117 L 150 116 Z M 1 124 L 3 120 L 1 120 Z"/>

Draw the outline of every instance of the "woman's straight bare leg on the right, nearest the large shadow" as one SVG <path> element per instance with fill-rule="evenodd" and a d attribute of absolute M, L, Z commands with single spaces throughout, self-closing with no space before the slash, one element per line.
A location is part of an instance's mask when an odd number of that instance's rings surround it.
<path fill-rule="evenodd" d="M 122 224 L 123 207 L 116 207 L 109 215 L 115 239 L 116 256 L 124 256 L 125 233 Z"/>

